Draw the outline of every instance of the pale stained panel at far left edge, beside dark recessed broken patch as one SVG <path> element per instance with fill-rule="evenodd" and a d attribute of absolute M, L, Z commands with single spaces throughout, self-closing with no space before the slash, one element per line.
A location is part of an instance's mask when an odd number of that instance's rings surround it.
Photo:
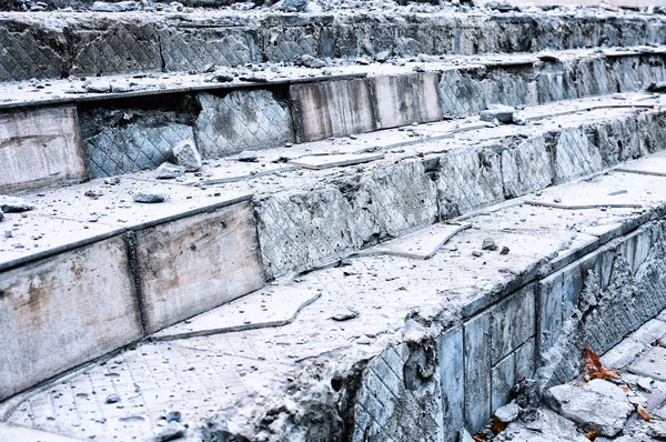
<path fill-rule="evenodd" d="M 0 193 L 87 178 L 75 108 L 0 113 Z"/>

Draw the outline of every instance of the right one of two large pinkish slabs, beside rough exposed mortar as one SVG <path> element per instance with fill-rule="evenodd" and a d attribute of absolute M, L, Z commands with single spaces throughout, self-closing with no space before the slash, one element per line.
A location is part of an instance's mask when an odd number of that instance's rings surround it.
<path fill-rule="evenodd" d="M 249 202 L 139 231 L 135 247 L 149 332 L 264 283 Z"/>

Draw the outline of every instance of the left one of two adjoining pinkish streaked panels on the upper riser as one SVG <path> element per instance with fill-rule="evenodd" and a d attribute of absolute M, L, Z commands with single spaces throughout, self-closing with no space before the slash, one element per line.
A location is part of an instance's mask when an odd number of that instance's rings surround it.
<path fill-rule="evenodd" d="M 374 101 L 365 79 L 290 87 L 296 141 L 376 130 Z"/>

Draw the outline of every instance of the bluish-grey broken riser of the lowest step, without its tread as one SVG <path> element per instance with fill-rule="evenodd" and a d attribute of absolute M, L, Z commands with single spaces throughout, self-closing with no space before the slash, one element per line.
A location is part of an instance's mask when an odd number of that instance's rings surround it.
<path fill-rule="evenodd" d="M 536 374 L 545 388 L 576 376 L 584 348 L 602 354 L 666 308 L 665 228 L 666 221 L 648 222 L 537 278 L 436 342 L 384 351 L 364 370 L 352 440 L 398 440 L 410 429 L 424 440 L 456 442 L 460 430 L 477 432 L 508 403 L 522 378 Z M 598 304 L 581 320 L 583 292 L 595 292 Z M 575 333 L 564 335 L 571 329 Z"/>

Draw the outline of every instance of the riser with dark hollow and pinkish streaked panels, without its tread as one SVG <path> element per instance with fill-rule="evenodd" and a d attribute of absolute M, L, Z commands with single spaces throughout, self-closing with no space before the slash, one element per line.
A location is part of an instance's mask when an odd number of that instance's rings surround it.
<path fill-rule="evenodd" d="M 0 192 L 154 169 L 188 138 L 204 159 L 213 159 L 437 121 L 446 113 L 468 115 L 491 103 L 636 91 L 666 79 L 664 58 L 587 57 L 6 111 L 0 113 L 0 135 L 7 140 Z"/>

